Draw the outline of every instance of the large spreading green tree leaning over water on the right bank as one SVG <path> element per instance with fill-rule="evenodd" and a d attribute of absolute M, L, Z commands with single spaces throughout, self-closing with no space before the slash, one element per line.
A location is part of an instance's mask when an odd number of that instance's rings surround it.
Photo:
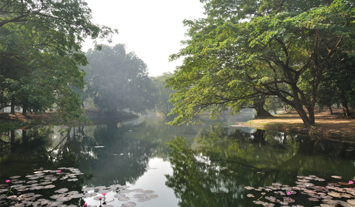
<path fill-rule="evenodd" d="M 185 57 L 168 79 L 177 90 L 177 124 L 210 106 L 235 111 L 240 101 L 276 95 L 314 125 L 316 91 L 340 53 L 353 55 L 355 5 L 327 1 L 206 0 L 207 17 L 185 21 L 189 40 L 171 59 Z M 338 63 L 341 60 L 338 60 Z M 312 75 L 310 94 L 299 87 Z M 308 116 L 304 108 L 308 111 Z"/>

